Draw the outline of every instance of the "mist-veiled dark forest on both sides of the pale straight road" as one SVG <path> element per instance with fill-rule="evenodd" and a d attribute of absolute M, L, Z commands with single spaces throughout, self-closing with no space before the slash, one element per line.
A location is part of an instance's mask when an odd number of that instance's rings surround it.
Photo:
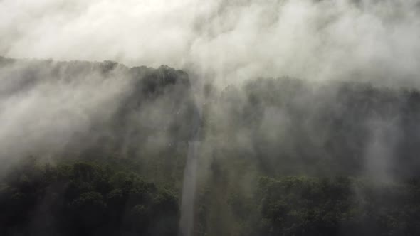
<path fill-rule="evenodd" d="M 260 78 L 197 102 L 164 65 L 9 58 L 0 78 L 4 111 L 42 111 L 1 144 L 1 235 L 177 235 L 196 112 L 194 235 L 420 233 L 415 89 Z"/>

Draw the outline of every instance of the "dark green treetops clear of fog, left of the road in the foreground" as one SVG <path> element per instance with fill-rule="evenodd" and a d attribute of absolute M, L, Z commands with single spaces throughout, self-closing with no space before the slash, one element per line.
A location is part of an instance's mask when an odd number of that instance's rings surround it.
<path fill-rule="evenodd" d="M 1 235 L 175 235 L 172 191 L 93 163 L 22 168 L 0 187 Z"/>

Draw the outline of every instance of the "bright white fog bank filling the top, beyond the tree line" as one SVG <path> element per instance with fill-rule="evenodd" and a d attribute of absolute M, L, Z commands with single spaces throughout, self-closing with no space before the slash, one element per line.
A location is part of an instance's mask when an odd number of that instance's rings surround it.
<path fill-rule="evenodd" d="M 246 77 L 413 80 L 416 0 L 3 0 L 0 55 Z M 398 83 L 397 83 L 398 84 Z"/>

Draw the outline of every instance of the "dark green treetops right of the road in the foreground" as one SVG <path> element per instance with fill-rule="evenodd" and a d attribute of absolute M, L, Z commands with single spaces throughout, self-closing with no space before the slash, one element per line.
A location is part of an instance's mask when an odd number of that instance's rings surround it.
<path fill-rule="evenodd" d="M 243 218 L 253 229 L 246 235 L 419 235 L 419 189 L 416 181 L 261 178 L 248 207 L 243 197 L 230 205 L 233 212 L 261 214 Z"/>

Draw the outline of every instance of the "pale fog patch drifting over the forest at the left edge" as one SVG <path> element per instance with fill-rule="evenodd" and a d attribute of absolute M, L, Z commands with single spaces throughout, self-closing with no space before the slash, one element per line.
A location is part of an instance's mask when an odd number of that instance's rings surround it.
<path fill-rule="evenodd" d="M 22 60 L 1 67 L 0 160 L 62 151 L 93 121 L 110 119 L 130 91 L 124 70 L 104 77 L 99 68 L 68 65 Z"/>

